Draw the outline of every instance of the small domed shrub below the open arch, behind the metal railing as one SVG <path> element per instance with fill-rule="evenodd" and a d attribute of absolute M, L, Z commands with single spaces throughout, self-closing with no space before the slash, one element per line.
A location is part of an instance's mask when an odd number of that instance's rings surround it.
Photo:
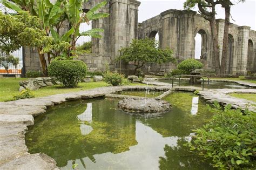
<path fill-rule="evenodd" d="M 191 71 L 201 68 L 203 68 L 203 64 L 193 58 L 186 59 L 178 64 L 178 69 L 183 71 L 185 74 L 190 74 Z"/>

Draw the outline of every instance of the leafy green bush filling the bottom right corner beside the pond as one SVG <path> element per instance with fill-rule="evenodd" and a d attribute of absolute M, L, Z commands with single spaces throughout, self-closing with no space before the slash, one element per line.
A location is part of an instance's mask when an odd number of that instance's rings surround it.
<path fill-rule="evenodd" d="M 246 110 L 224 110 L 215 102 L 216 114 L 210 123 L 197 129 L 196 136 L 188 142 L 205 158 L 212 158 L 213 166 L 221 169 L 253 168 L 256 157 L 256 113 Z"/>

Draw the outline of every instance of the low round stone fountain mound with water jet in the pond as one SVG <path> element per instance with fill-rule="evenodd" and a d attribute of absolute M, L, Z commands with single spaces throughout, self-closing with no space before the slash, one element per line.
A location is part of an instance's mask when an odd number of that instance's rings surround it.
<path fill-rule="evenodd" d="M 171 109 L 171 105 L 165 100 L 159 100 L 154 98 L 125 98 L 119 101 L 118 108 L 122 108 L 122 110 L 126 112 L 133 113 L 163 113 L 169 111 Z"/>

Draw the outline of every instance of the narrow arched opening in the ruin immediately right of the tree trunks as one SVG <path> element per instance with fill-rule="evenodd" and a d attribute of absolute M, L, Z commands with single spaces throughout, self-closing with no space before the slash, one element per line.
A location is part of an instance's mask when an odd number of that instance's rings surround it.
<path fill-rule="evenodd" d="M 234 37 L 228 34 L 228 50 L 226 59 L 226 73 L 231 74 L 233 71 L 233 61 L 234 61 Z"/>

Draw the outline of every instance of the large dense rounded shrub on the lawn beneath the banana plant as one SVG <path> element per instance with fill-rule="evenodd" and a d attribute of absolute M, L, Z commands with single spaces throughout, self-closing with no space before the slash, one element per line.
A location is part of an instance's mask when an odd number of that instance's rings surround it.
<path fill-rule="evenodd" d="M 86 75 L 86 64 L 78 60 L 54 60 L 48 67 L 48 73 L 65 87 L 75 87 Z"/>

